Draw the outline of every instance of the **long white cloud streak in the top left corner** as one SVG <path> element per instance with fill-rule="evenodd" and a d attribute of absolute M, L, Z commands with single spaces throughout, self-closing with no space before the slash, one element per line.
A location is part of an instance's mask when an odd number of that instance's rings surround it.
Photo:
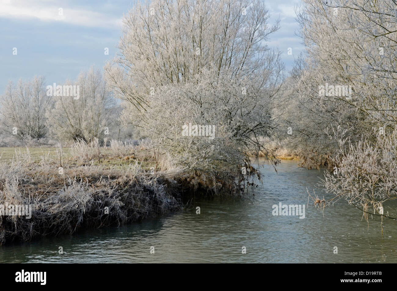
<path fill-rule="evenodd" d="M 60 15 L 60 8 L 62 15 Z M 48 1 L 0 0 L 0 17 L 16 19 L 40 19 L 42 21 L 62 21 L 68 24 L 88 27 L 121 26 L 121 18 L 110 17 L 91 10 L 71 9 L 55 6 Z"/>

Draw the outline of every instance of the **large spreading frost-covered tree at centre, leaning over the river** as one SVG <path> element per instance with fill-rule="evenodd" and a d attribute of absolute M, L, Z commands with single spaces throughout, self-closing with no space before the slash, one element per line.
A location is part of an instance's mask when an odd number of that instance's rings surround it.
<path fill-rule="evenodd" d="M 269 17 L 259 0 L 137 1 L 123 20 L 120 54 L 105 67 L 124 117 L 154 152 L 207 174 L 214 188 L 241 175 L 249 153 L 275 161 L 258 142 L 274 130 L 283 81 L 280 52 L 266 45 L 279 24 Z M 195 126 L 214 128 L 214 138 Z"/>

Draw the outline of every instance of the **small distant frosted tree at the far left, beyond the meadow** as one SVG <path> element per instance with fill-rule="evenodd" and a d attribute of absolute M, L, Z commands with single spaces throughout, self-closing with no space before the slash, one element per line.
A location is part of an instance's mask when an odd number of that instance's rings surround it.
<path fill-rule="evenodd" d="M 0 97 L 3 133 L 19 140 L 40 139 L 47 133 L 45 112 L 49 104 L 44 77 L 11 81 Z"/>

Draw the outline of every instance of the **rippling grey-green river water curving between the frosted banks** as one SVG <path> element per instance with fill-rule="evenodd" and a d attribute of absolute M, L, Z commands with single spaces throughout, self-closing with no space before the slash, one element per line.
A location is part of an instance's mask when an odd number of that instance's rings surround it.
<path fill-rule="evenodd" d="M 397 221 L 384 219 L 382 236 L 380 218 L 370 218 L 368 227 L 345 201 L 324 216 L 312 202 L 304 219 L 272 215 L 279 202 L 306 205 L 306 187 L 312 190 L 322 171 L 300 168 L 297 161 L 283 160 L 278 173 L 259 164 L 263 185 L 242 198 L 193 198 L 190 210 L 160 218 L 7 244 L 0 247 L 0 262 L 397 262 Z M 385 212 L 396 217 L 396 208 L 389 204 Z"/>

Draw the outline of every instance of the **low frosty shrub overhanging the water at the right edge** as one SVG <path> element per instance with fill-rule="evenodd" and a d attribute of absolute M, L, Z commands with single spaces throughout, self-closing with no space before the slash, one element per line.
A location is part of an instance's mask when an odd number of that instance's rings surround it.
<path fill-rule="evenodd" d="M 362 139 L 355 143 L 341 128 L 334 133 L 339 134 L 335 167 L 325 173 L 321 183 L 332 196 L 320 199 L 314 194 L 315 205 L 324 208 L 345 199 L 362 210 L 366 219 L 368 214 L 397 219 L 384 210 L 385 202 L 397 198 L 397 130 L 378 134 L 375 142 Z"/>

